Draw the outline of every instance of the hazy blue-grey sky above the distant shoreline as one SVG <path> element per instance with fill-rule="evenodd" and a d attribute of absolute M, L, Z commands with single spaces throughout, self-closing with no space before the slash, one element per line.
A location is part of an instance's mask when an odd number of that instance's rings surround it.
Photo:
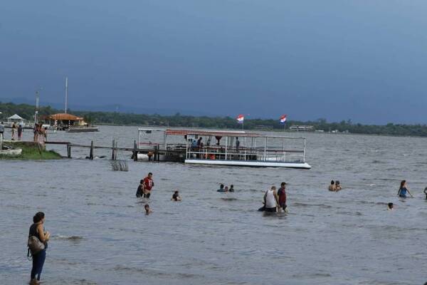
<path fill-rule="evenodd" d="M 0 2 L 0 98 L 427 123 L 425 0 Z"/>

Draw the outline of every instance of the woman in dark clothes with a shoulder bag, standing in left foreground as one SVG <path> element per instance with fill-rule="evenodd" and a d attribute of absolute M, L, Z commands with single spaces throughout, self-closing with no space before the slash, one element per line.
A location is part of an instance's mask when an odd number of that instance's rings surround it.
<path fill-rule="evenodd" d="M 46 259 L 46 249 L 48 248 L 48 240 L 51 237 L 49 232 L 45 232 L 43 224 L 46 220 L 45 214 L 43 212 L 38 212 L 33 217 L 33 224 L 31 224 L 30 232 L 28 237 L 34 236 L 37 237 L 43 244 L 45 248 L 40 252 L 33 254 L 33 267 L 31 269 L 31 285 L 40 284 L 41 271 L 43 269 L 43 264 Z"/>

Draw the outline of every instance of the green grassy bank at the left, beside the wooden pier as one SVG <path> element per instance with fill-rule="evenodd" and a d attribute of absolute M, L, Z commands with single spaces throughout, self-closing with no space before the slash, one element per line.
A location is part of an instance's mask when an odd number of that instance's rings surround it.
<path fill-rule="evenodd" d="M 58 160 L 61 156 L 53 150 L 46 150 L 34 142 L 5 142 L 14 148 L 21 148 L 22 153 L 18 156 L 0 155 L 0 160 Z"/>

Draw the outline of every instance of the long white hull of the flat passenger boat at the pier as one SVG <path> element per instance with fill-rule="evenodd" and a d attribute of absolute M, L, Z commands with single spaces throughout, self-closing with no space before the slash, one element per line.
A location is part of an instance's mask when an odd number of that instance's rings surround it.
<path fill-rule="evenodd" d="M 310 169 L 307 162 L 272 162 L 272 161 L 244 161 L 244 160 L 185 160 L 185 163 L 194 165 L 227 165 L 251 167 L 288 167 Z"/>

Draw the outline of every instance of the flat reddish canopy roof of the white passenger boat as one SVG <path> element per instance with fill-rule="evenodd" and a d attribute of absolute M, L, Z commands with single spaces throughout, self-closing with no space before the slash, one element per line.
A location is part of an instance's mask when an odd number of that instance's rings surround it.
<path fill-rule="evenodd" d="M 303 137 L 285 137 L 282 135 L 261 135 L 258 133 L 246 133 L 241 130 L 165 130 L 166 135 L 212 135 L 218 137 L 246 137 L 246 138 L 283 138 L 283 139 L 305 139 Z"/>

